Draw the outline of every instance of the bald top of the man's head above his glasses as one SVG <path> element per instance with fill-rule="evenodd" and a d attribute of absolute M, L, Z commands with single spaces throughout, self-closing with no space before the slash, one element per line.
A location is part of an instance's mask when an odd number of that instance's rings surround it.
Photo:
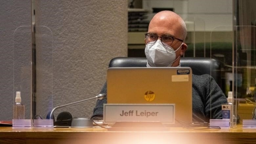
<path fill-rule="evenodd" d="M 168 10 L 160 11 L 154 15 L 149 23 L 148 32 L 152 29 L 166 29 L 172 31 L 172 35 L 183 41 L 187 35 L 187 29 L 183 19 L 176 13 Z"/>

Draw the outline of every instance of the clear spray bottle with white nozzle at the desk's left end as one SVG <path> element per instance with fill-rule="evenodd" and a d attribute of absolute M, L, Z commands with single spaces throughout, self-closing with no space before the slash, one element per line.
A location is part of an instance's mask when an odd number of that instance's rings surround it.
<path fill-rule="evenodd" d="M 13 119 L 24 119 L 25 106 L 21 105 L 20 92 L 16 92 L 15 105 L 13 105 Z"/>

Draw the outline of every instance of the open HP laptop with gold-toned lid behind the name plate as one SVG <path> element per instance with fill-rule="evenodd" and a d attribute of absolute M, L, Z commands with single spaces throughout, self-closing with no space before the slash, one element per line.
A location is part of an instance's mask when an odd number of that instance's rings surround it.
<path fill-rule="evenodd" d="M 175 104 L 175 124 L 192 122 L 189 67 L 109 68 L 107 89 L 108 104 Z"/>

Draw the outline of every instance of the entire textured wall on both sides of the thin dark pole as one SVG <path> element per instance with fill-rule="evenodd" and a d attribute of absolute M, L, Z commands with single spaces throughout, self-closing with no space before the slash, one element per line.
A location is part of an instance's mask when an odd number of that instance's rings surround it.
<path fill-rule="evenodd" d="M 105 82 L 110 59 L 127 56 L 127 0 L 36 0 L 35 24 L 36 103 L 37 114 L 43 118 L 52 107 L 97 95 Z M 24 25 L 31 25 L 31 0 L 1 1 L 0 120 L 12 119 L 13 32 Z M 28 51 L 21 53 L 26 63 L 20 63 L 22 68 L 17 75 L 25 83 L 23 104 L 26 118 L 30 118 L 31 65 L 27 61 L 31 59 L 32 46 L 30 29 L 22 30 L 27 41 L 17 43 Z M 92 100 L 61 108 L 54 115 L 68 111 L 73 117 L 90 118 L 95 103 Z"/>

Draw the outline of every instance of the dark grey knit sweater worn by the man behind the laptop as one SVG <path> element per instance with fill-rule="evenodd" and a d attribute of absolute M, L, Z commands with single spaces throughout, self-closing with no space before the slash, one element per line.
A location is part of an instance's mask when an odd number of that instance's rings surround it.
<path fill-rule="evenodd" d="M 107 83 L 104 84 L 100 93 L 107 93 Z M 107 98 L 97 100 L 91 119 L 102 120 L 104 103 L 107 103 Z M 221 105 L 225 103 L 227 103 L 227 100 L 224 93 L 209 74 L 192 75 L 192 112 L 194 122 L 209 122 L 210 119 L 222 119 Z"/>

